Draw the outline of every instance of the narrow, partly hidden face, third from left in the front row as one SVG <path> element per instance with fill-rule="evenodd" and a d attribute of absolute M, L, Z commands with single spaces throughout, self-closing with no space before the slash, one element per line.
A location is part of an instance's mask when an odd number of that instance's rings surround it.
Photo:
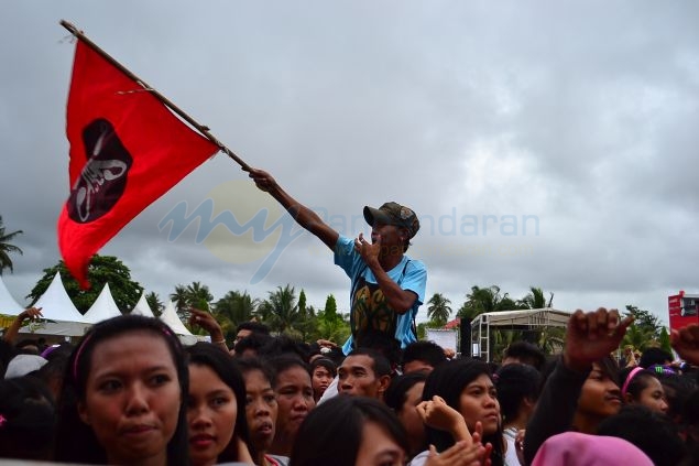
<path fill-rule="evenodd" d="M 250 443 L 258 452 L 270 449 L 274 440 L 276 422 L 276 395 L 272 384 L 259 370 L 243 375 L 245 379 L 245 419 L 250 431 Z"/>

